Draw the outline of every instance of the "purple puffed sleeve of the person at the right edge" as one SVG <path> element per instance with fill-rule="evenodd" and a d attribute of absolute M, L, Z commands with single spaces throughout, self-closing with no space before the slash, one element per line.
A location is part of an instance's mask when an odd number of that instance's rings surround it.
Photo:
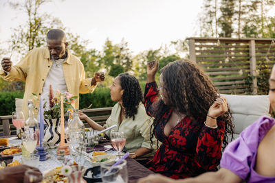
<path fill-rule="evenodd" d="M 271 117 L 261 117 L 246 127 L 239 138 L 236 138 L 225 148 L 221 158 L 221 167 L 232 171 L 245 180 L 250 174 L 250 164 L 256 156 L 259 143 L 274 123 L 275 120 Z"/>

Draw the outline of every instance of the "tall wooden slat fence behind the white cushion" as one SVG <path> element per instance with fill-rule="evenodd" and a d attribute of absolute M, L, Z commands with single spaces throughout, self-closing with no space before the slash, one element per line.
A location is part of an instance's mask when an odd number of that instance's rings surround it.
<path fill-rule="evenodd" d="M 188 38 L 190 60 L 208 74 L 220 93 L 256 95 L 257 75 L 275 64 L 275 39 Z"/>

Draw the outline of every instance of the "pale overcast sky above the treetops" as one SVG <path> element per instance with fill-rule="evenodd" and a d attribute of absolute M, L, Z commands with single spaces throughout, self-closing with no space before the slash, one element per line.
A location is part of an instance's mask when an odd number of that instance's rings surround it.
<path fill-rule="evenodd" d="M 21 0 L 23 1 L 23 0 Z M 10 39 L 11 28 L 26 21 L 23 12 L 0 0 L 0 41 Z M 61 19 L 70 32 L 91 41 L 89 48 L 102 50 L 107 38 L 129 42 L 133 53 L 157 49 L 171 40 L 196 35 L 202 0 L 55 0 L 41 10 Z"/>

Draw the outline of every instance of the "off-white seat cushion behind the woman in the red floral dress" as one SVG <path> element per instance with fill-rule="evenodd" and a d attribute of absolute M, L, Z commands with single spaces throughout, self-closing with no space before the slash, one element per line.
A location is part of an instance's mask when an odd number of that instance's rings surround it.
<path fill-rule="evenodd" d="M 248 127 L 259 117 L 266 115 L 270 117 L 270 100 L 268 95 L 225 95 L 221 94 L 228 101 L 235 125 L 235 135 L 240 134 L 245 127 Z"/>

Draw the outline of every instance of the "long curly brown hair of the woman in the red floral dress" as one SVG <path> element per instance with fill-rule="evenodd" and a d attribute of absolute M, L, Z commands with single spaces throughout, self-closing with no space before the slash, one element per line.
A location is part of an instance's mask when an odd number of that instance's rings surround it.
<path fill-rule="evenodd" d="M 170 100 L 167 106 L 162 100 L 157 103 L 155 110 L 155 119 L 153 121 L 153 130 L 151 130 L 152 138 L 155 134 L 155 127 L 160 119 L 170 108 L 175 108 L 178 112 L 186 114 L 191 119 L 206 119 L 210 106 L 219 96 L 217 89 L 214 87 L 208 76 L 190 60 L 176 60 L 170 62 L 160 70 L 163 79 L 163 89 L 166 92 L 166 98 Z M 194 120 L 195 121 L 195 120 Z M 228 145 L 228 134 L 232 136 L 234 133 L 234 125 L 232 123 L 232 115 L 230 109 L 228 112 L 217 118 L 217 123 L 225 122 L 225 136 L 223 138 L 223 148 Z M 203 122 L 197 123 L 203 126 Z"/>

